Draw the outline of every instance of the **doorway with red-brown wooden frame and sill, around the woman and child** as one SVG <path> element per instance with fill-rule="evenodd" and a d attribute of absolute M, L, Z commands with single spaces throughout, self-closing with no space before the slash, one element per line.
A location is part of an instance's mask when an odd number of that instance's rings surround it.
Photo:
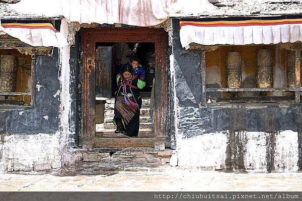
<path fill-rule="evenodd" d="M 80 141 L 93 142 L 95 147 L 154 147 L 158 143 L 164 146 L 169 144 L 167 38 L 167 33 L 163 29 L 82 30 L 83 133 Z M 142 115 L 141 119 L 147 121 L 145 123 L 149 123 L 150 126 L 140 129 L 138 137 L 129 138 L 114 134 L 114 128 L 108 126 L 114 115 L 112 111 L 116 89 L 115 77 L 118 72 L 113 57 L 117 44 L 120 43 L 127 43 L 130 49 L 135 43 L 139 43 L 137 55 L 146 70 L 146 87 L 142 90 L 142 96 L 146 102 L 152 102 L 152 98 L 154 99 L 152 108 L 150 104 L 142 107 L 148 112 L 144 112 L 143 115 L 146 116 Z M 147 113 L 152 122 L 148 119 Z M 103 126 L 99 126 L 101 124 Z M 106 129 L 108 132 L 104 132 Z"/>

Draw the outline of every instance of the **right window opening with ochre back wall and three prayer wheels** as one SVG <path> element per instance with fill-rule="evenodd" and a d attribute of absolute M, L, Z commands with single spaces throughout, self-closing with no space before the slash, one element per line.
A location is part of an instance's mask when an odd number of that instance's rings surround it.
<path fill-rule="evenodd" d="M 295 103 L 295 51 L 220 46 L 205 53 L 206 103 Z"/>

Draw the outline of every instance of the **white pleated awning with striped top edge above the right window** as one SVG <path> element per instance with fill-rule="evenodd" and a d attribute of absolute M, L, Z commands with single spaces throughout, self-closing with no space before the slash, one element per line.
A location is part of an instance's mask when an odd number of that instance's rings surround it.
<path fill-rule="evenodd" d="M 302 41 L 302 19 L 184 20 L 180 41 L 183 47 L 293 43 Z"/>

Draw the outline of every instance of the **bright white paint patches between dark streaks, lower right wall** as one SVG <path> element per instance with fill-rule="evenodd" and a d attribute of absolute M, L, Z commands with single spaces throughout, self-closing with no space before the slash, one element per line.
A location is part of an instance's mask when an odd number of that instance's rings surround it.
<path fill-rule="evenodd" d="M 178 166 L 180 167 L 225 167 L 226 150 L 229 144 L 229 131 L 207 133 L 192 138 L 177 136 Z M 244 167 L 249 171 L 267 171 L 267 138 L 271 133 L 238 132 L 244 136 L 242 158 Z M 279 172 L 298 170 L 298 135 L 290 130 L 275 135 L 274 169 Z M 234 147 L 232 147 L 234 149 Z M 233 157 L 233 156 L 232 156 Z M 233 160 L 233 158 L 231 159 Z"/>

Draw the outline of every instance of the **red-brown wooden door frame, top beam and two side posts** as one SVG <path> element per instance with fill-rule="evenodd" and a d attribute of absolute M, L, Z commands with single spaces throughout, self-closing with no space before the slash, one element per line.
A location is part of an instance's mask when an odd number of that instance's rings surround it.
<path fill-rule="evenodd" d="M 82 29 L 83 87 L 82 87 L 82 137 L 95 137 L 95 52 L 97 42 L 152 42 L 155 43 L 155 137 L 168 136 L 168 34 L 164 29 L 151 28 L 86 28 Z M 93 63 L 89 62 L 91 60 Z M 91 87 L 93 86 L 93 87 Z M 92 98 L 93 97 L 93 98 Z M 80 141 L 82 138 L 80 138 Z"/>

